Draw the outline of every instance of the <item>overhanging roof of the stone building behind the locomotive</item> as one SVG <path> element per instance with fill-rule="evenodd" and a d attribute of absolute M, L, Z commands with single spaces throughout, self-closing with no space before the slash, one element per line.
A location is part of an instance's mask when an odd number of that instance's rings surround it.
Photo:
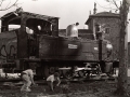
<path fill-rule="evenodd" d="M 92 14 L 89 16 L 86 24 L 88 25 L 89 22 L 94 17 L 116 17 L 116 18 L 119 18 L 119 14 L 112 13 L 112 12 L 101 12 L 101 13 Z"/>

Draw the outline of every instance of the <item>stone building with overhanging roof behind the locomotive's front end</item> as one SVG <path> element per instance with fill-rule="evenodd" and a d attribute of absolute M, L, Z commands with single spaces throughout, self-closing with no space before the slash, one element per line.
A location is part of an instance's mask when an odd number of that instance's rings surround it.
<path fill-rule="evenodd" d="M 118 57 L 119 52 L 119 14 L 112 12 L 94 12 L 86 22 L 88 28 L 92 30 L 95 40 L 98 39 L 98 25 L 100 25 L 103 40 L 108 40 L 113 44 L 113 59 Z"/>

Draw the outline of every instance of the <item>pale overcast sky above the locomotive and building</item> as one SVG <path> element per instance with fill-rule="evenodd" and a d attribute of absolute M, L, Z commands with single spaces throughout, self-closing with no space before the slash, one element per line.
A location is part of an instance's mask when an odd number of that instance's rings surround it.
<path fill-rule="evenodd" d="M 75 24 L 76 22 L 80 24 L 79 28 L 83 29 L 86 28 L 84 23 L 89 17 L 90 11 L 93 14 L 94 2 L 96 2 L 98 13 L 115 9 L 106 0 L 20 0 L 18 6 L 22 6 L 25 12 L 60 17 L 60 29 L 66 28 L 69 24 Z M 9 11 L 0 12 L 0 15 L 15 9 L 12 8 Z M 130 25 L 128 28 L 130 28 Z"/>

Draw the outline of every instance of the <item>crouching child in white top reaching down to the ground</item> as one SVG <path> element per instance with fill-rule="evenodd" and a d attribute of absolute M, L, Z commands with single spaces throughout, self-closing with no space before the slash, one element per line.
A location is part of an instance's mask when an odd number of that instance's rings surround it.
<path fill-rule="evenodd" d="M 54 72 L 54 74 L 49 75 L 47 78 L 47 83 L 48 83 L 49 88 L 53 92 L 54 87 L 61 84 L 60 73 Z"/>

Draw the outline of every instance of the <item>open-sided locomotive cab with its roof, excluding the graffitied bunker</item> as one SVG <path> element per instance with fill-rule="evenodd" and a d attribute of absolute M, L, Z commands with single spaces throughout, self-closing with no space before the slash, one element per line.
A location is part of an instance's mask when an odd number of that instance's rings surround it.
<path fill-rule="evenodd" d="M 10 32 L 9 25 L 20 25 L 17 31 L 14 30 L 15 37 L 17 37 L 17 58 L 38 57 L 38 36 L 58 36 L 58 25 L 55 27 L 55 24 L 58 23 L 58 17 L 20 11 L 8 13 L 1 18 L 2 33 Z"/>

